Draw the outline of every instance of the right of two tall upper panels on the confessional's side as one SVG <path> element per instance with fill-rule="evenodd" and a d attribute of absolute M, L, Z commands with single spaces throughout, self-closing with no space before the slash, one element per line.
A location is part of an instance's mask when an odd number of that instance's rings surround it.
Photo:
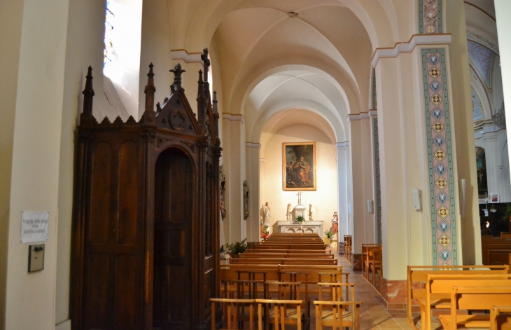
<path fill-rule="evenodd" d="M 119 160 L 119 236 L 120 244 L 134 244 L 137 240 L 139 180 L 139 146 L 127 141 L 120 148 Z"/>

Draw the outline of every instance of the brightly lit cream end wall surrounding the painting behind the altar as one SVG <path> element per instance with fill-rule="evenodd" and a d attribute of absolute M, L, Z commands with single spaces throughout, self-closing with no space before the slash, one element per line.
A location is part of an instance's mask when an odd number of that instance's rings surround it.
<path fill-rule="evenodd" d="M 312 204 L 314 221 L 325 221 L 324 230 L 331 226 L 333 212 L 337 212 L 337 151 L 335 145 L 318 128 L 307 124 L 290 125 L 274 134 L 263 132 L 261 136 L 261 158 L 265 159 L 264 170 L 260 172 L 260 206 L 269 203 L 272 209 L 270 223 L 277 231 L 276 221 L 286 220 L 288 202 L 297 205 L 297 191 L 283 191 L 282 188 L 282 144 L 284 142 L 316 142 L 316 191 L 302 193 L 302 205 Z M 308 220 L 308 216 L 306 217 Z M 341 220 L 341 219 L 339 219 Z"/>

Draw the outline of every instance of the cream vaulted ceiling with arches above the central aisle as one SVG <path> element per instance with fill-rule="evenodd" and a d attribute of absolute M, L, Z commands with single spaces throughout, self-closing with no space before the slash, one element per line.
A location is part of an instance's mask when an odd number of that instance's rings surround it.
<path fill-rule="evenodd" d="M 280 111 L 302 109 L 344 142 L 348 114 L 370 109 L 374 50 L 409 36 L 407 15 L 398 15 L 411 12 L 409 3 L 169 0 L 170 12 L 180 13 L 172 15 L 172 48 L 214 48 L 223 111 L 244 115 L 248 141 L 257 142 Z"/>

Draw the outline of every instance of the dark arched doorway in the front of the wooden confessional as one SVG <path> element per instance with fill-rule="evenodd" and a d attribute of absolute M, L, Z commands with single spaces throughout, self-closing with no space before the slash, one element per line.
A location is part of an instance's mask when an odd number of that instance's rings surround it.
<path fill-rule="evenodd" d="M 179 149 L 155 166 L 153 327 L 188 329 L 192 304 L 193 166 Z"/>

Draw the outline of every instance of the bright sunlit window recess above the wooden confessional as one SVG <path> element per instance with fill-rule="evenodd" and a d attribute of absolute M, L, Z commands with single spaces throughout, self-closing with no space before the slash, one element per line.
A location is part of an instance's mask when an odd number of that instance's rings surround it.
<path fill-rule="evenodd" d="M 103 74 L 138 118 L 142 0 L 107 0 Z"/>

